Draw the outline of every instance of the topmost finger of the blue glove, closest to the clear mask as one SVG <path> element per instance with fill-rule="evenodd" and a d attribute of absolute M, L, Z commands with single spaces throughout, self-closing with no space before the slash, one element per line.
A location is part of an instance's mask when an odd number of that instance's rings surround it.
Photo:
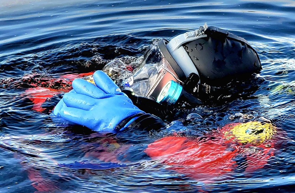
<path fill-rule="evenodd" d="M 93 79 L 96 86 L 106 94 L 124 95 L 114 81 L 103 71 L 94 72 Z"/>

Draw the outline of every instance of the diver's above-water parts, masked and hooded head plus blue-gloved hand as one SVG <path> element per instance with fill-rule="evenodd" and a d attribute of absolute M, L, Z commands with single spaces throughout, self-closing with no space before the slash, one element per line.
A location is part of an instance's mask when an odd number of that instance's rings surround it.
<path fill-rule="evenodd" d="M 169 42 L 153 42 L 122 91 L 102 71 L 94 73 L 95 84 L 73 80 L 53 114 L 99 132 L 163 128 L 167 109 L 196 107 L 230 80 L 260 70 L 258 54 L 245 39 L 205 23 Z"/>

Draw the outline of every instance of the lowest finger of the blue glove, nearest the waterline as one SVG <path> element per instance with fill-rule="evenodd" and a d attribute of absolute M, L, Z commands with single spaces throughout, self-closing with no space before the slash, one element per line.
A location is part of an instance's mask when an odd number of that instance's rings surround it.
<path fill-rule="evenodd" d="M 78 125 L 88 126 L 89 119 L 87 119 L 87 115 L 90 111 L 82 110 L 78 108 L 71 107 L 63 107 L 60 110 L 60 117 L 65 119 L 66 121 L 70 121 L 72 123 L 76 123 Z"/>

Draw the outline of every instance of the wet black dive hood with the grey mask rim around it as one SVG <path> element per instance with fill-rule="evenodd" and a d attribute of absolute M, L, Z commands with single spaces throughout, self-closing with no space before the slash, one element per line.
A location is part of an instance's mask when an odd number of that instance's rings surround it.
<path fill-rule="evenodd" d="M 183 83 L 189 78 L 194 84 L 218 87 L 262 69 L 257 52 L 245 39 L 206 23 L 170 42 L 162 39 L 158 46 Z"/>

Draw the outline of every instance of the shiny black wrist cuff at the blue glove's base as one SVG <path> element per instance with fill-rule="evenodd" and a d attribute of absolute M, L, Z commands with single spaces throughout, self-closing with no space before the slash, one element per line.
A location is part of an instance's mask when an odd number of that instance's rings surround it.
<path fill-rule="evenodd" d="M 167 123 L 151 114 L 138 113 L 135 116 L 123 120 L 117 127 L 117 131 L 124 129 L 143 129 L 146 131 L 158 130 L 167 126 Z"/>

